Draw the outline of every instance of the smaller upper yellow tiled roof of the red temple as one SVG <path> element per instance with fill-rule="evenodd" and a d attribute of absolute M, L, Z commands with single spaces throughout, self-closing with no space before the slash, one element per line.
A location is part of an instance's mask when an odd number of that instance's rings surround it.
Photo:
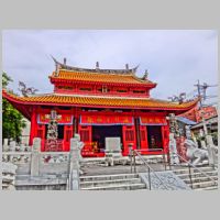
<path fill-rule="evenodd" d="M 105 73 L 86 73 L 69 72 L 61 69 L 58 76 L 55 73 L 50 76 L 51 79 L 74 80 L 74 81 L 100 81 L 100 82 L 121 82 L 121 84 L 143 84 L 155 85 L 150 80 L 142 80 L 133 74 L 105 74 Z"/>

